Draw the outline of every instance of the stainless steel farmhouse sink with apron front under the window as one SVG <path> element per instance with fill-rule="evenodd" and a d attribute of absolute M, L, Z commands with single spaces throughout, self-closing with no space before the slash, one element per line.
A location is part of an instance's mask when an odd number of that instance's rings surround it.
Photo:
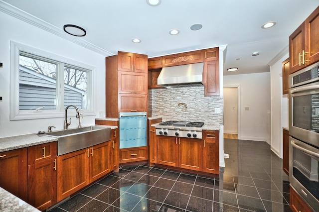
<path fill-rule="evenodd" d="M 87 126 L 47 132 L 58 141 L 58 155 L 74 152 L 111 140 L 111 128 Z"/>

